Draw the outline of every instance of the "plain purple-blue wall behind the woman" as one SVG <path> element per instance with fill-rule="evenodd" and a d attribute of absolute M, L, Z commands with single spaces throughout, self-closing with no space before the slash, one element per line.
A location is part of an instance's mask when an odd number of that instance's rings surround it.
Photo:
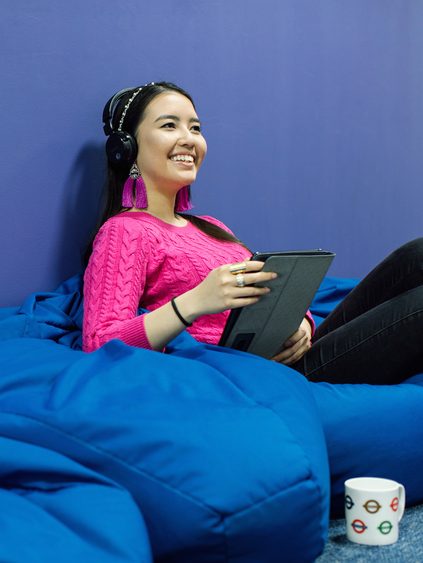
<path fill-rule="evenodd" d="M 327 247 L 362 276 L 419 236 L 420 0 L 22 0 L 0 20 L 0 305 L 79 271 L 116 90 L 192 93 L 198 213 L 252 249 Z"/>

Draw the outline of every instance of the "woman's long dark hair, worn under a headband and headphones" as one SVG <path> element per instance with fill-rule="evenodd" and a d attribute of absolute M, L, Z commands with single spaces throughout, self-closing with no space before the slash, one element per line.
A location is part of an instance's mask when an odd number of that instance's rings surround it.
<path fill-rule="evenodd" d="M 130 97 L 134 94 L 135 90 L 139 87 L 135 87 L 129 90 L 119 101 L 119 105 L 116 108 L 116 111 L 113 115 L 114 120 L 114 127 L 116 127 L 117 123 L 122 116 L 123 110 L 125 105 L 127 104 Z M 135 137 L 137 128 L 141 123 L 145 110 L 148 104 L 159 94 L 163 92 L 178 92 L 188 98 L 188 100 L 192 103 L 194 109 L 195 104 L 191 96 L 171 82 L 155 82 L 151 84 L 147 84 L 142 88 L 139 94 L 136 95 L 132 103 L 129 105 L 129 108 L 126 112 L 124 123 L 122 129 L 126 132 Z M 125 210 L 126 208 L 122 207 L 122 192 L 123 192 L 123 184 L 125 180 L 129 176 L 130 165 L 119 165 L 115 166 L 112 165 L 109 161 L 107 162 L 107 179 L 105 185 L 105 198 L 104 198 L 104 209 L 100 215 L 100 219 L 97 223 L 97 227 L 95 231 L 97 232 L 98 229 L 108 220 L 110 217 L 117 215 L 121 211 Z M 184 217 L 187 221 L 190 221 L 193 225 L 195 225 L 198 229 L 206 233 L 207 235 L 222 241 L 227 242 L 237 242 L 241 243 L 239 239 L 235 236 L 231 235 L 224 229 L 221 229 L 217 225 L 209 223 L 205 219 L 200 217 L 196 217 L 195 215 L 191 215 L 189 213 L 180 213 L 182 217 Z M 88 259 L 92 252 L 92 244 L 94 241 L 95 235 L 92 237 L 88 248 L 85 252 L 84 262 L 85 264 L 88 262 Z"/>

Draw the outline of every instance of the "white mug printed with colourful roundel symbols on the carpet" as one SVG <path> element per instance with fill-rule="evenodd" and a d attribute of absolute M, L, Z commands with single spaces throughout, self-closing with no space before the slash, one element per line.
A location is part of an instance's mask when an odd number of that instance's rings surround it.
<path fill-rule="evenodd" d="M 388 545 L 398 539 L 405 489 L 391 479 L 357 477 L 345 481 L 345 521 L 350 541 Z"/>

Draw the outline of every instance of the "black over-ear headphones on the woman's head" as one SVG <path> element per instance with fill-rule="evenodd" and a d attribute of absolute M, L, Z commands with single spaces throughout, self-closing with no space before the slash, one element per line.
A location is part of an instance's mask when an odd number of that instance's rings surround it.
<path fill-rule="evenodd" d="M 106 154 L 109 162 L 115 166 L 128 166 L 133 164 L 137 158 L 138 154 L 138 144 L 132 135 L 122 131 L 123 121 L 125 119 L 126 112 L 133 101 L 133 99 L 141 92 L 142 88 L 137 88 L 134 92 L 134 88 L 125 88 L 120 90 L 110 98 L 106 103 L 103 110 L 103 131 L 109 137 L 106 141 Z M 113 120 L 115 118 L 116 109 L 119 107 L 122 98 L 128 92 L 134 92 L 132 97 L 127 102 L 125 109 L 123 110 L 119 126 L 116 129 L 113 126 Z"/>

